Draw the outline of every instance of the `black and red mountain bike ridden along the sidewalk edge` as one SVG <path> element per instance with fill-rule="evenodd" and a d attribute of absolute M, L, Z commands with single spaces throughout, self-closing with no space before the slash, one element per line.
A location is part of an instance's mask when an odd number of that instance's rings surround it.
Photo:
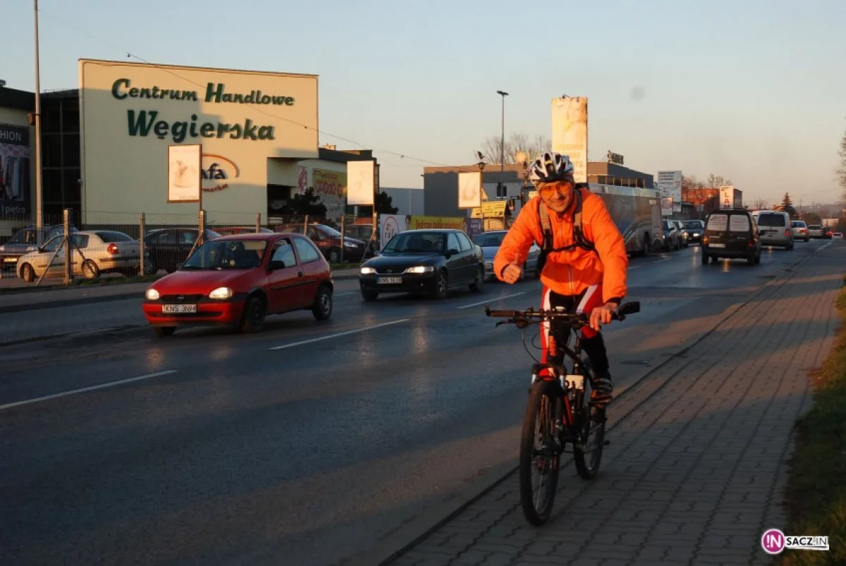
<path fill-rule="evenodd" d="M 551 310 L 491 310 L 487 316 L 507 318 L 501 324 L 514 324 L 524 330 L 532 324 L 547 323 L 547 362 L 536 360 L 531 369 L 529 402 L 520 437 L 519 486 L 520 504 L 525 519 L 532 525 L 545 524 L 552 514 L 561 454 L 570 453 L 572 445 L 576 471 L 585 480 L 592 480 L 599 471 L 605 440 L 607 402 L 594 402 L 594 374 L 591 360 L 582 359 L 579 330 L 589 324 L 590 316 L 573 314 L 564 307 Z M 640 312 L 640 303 L 620 305 L 614 320 Z M 572 348 L 570 338 L 575 335 Z M 525 346 L 526 351 L 529 348 Z M 531 353 L 530 353 L 531 355 Z M 534 356 L 533 356 L 534 357 Z M 572 371 L 565 357 L 573 361 Z M 592 440 L 591 440 L 592 438 Z M 538 481 L 536 482 L 536 476 Z"/>

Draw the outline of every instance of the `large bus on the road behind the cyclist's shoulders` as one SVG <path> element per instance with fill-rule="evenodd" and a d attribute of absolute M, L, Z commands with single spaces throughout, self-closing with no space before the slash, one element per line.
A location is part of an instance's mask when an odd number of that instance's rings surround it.
<path fill-rule="evenodd" d="M 643 256 L 664 247 L 661 194 L 656 189 L 621 187 L 616 184 L 588 184 L 592 193 L 602 197 L 605 207 L 626 245 L 626 252 Z M 529 202 L 537 195 L 533 186 L 520 190 L 520 200 Z"/>

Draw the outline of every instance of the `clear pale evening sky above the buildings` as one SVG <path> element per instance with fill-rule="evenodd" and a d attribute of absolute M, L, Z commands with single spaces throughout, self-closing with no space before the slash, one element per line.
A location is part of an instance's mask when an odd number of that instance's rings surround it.
<path fill-rule="evenodd" d="M 321 145 L 374 150 L 383 187 L 475 162 L 502 90 L 506 137 L 551 137 L 552 98 L 587 96 L 591 161 L 722 175 L 745 203 L 840 194 L 844 0 L 38 4 L 42 90 L 77 88 L 80 58 L 318 74 Z M 2 13 L 0 79 L 33 91 L 33 3 Z"/>

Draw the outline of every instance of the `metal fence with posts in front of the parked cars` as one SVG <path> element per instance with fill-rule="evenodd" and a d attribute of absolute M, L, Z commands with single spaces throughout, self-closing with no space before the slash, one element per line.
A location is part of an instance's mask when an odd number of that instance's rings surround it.
<path fill-rule="evenodd" d="M 0 244 L 0 277 L 35 284 L 45 278 L 63 278 L 67 284 L 74 278 L 173 272 L 207 239 L 231 234 L 306 234 L 334 267 L 361 263 L 379 249 L 371 217 L 332 222 L 277 216 L 262 222 L 257 212 L 202 211 L 191 222 L 184 214 L 86 212 L 81 223 L 77 213 L 66 210 L 61 216 L 45 215 L 40 230 L 26 222 L 13 230 Z"/>

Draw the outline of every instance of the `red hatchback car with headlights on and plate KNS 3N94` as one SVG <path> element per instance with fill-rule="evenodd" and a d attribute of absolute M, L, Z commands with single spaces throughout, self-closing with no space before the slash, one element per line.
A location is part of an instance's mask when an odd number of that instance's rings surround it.
<path fill-rule="evenodd" d="M 143 309 L 159 336 L 209 325 L 259 332 L 265 316 L 292 310 L 327 320 L 333 290 L 332 269 L 305 236 L 238 234 L 206 241 L 147 288 Z"/>

